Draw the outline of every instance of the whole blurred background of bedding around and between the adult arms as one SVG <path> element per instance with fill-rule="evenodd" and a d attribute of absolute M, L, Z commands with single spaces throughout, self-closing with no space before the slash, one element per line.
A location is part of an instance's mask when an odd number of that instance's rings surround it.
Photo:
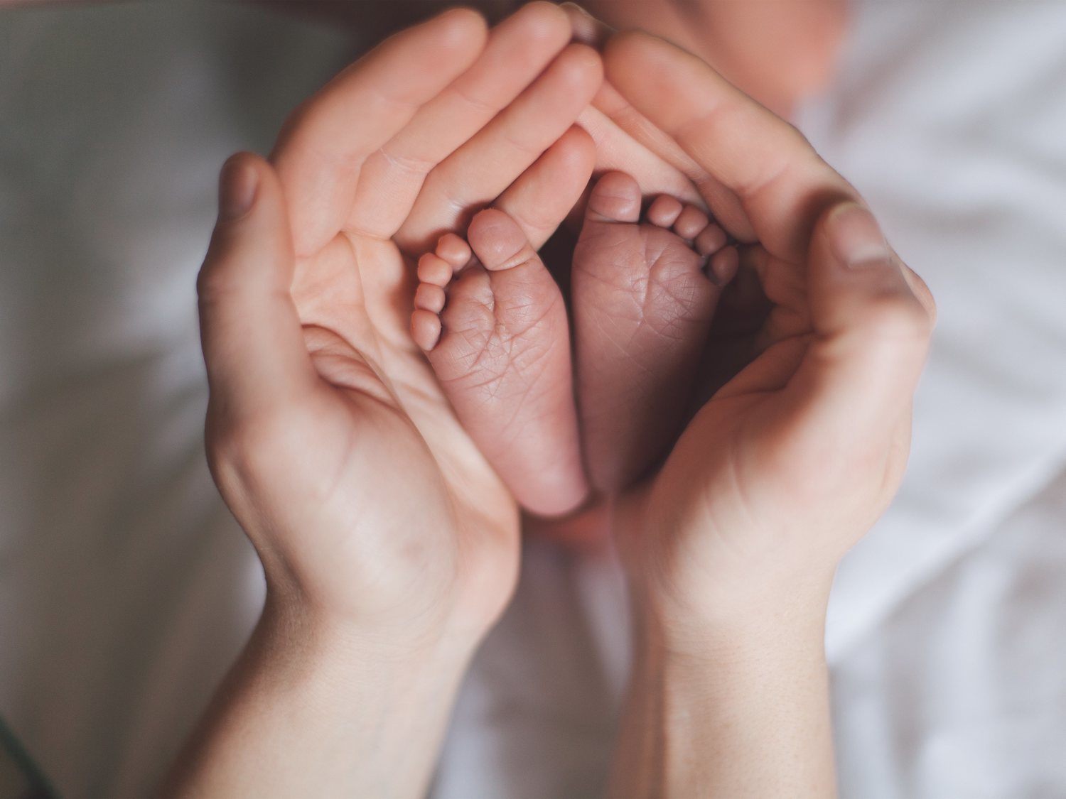
<path fill-rule="evenodd" d="M 800 69 L 775 36 L 819 3 L 721 1 L 758 11 L 739 56 L 643 23 L 789 113 L 940 309 L 907 482 L 830 607 L 841 794 L 1066 796 L 1066 3 L 856 0 Z M 217 168 L 431 6 L 0 3 L 0 717 L 64 796 L 148 795 L 261 602 L 201 445 Z M 435 795 L 601 794 L 627 624 L 608 556 L 529 542 Z"/>

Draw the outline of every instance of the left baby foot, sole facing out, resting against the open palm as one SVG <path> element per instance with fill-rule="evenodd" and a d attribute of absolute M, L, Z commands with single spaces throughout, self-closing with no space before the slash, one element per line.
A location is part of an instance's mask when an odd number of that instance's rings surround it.
<path fill-rule="evenodd" d="M 419 261 L 411 335 L 471 438 L 528 510 L 559 516 L 588 493 L 566 307 L 507 214 L 478 214 L 463 241 Z"/>

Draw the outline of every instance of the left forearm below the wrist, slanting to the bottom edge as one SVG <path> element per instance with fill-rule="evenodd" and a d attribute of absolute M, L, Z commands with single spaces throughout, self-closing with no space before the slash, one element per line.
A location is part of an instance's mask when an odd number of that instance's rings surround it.
<path fill-rule="evenodd" d="M 472 647 L 399 649 L 268 608 L 166 795 L 419 797 Z"/>

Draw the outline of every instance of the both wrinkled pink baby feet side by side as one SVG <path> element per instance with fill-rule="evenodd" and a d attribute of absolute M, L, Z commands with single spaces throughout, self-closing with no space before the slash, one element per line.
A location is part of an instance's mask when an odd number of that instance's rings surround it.
<path fill-rule="evenodd" d="M 560 173 L 577 198 L 587 176 Z M 684 426 L 694 375 L 737 251 L 707 214 L 601 177 L 574 255 L 577 394 L 563 296 L 521 229 L 483 211 L 419 261 L 411 335 L 516 500 L 540 516 L 626 488 Z M 561 219 L 559 222 L 562 222 Z M 584 457 L 582 457 L 584 456 Z M 586 479 L 583 461 L 587 463 Z"/>

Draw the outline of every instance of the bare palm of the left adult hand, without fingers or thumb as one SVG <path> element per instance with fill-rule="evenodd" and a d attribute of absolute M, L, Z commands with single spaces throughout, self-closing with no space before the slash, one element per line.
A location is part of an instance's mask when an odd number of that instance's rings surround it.
<path fill-rule="evenodd" d="M 455 585 L 481 585 L 461 569 L 488 567 L 505 580 L 517 561 L 513 501 L 407 332 L 410 275 L 390 240 L 341 232 L 297 264 L 293 283 L 323 388 L 305 418 L 309 440 L 302 445 L 317 453 L 318 488 L 308 488 L 332 522 L 323 527 L 337 531 L 326 551 L 351 553 L 352 560 L 335 570 L 340 581 L 328 590 L 361 612 L 360 580 L 387 576 L 387 602 L 401 602 L 415 582 L 423 589 L 438 583 L 422 593 L 439 600 Z M 433 535 L 426 520 L 434 520 Z"/>

